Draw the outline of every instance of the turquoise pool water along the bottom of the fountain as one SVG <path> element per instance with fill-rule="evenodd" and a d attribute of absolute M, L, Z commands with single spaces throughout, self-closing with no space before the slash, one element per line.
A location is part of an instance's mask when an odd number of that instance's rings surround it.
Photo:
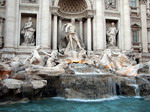
<path fill-rule="evenodd" d="M 49 98 L 0 106 L 0 112 L 150 112 L 150 101 L 144 101 L 142 98 L 95 101 Z"/>

